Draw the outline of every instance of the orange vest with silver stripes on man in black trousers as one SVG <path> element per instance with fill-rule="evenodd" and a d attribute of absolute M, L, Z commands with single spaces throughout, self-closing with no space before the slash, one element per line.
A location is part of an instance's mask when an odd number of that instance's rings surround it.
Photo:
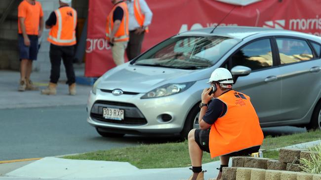
<path fill-rule="evenodd" d="M 47 40 L 57 46 L 72 46 L 76 44 L 77 12 L 74 8 L 65 6 L 55 10 L 56 24 L 51 27 Z"/>

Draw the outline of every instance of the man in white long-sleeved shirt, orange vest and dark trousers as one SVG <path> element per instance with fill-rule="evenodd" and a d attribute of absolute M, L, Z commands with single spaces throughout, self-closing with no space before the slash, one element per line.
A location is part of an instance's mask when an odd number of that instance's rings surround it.
<path fill-rule="evenodd" d="M 145 32 L 152 22 L 153 13 L 145 0 L 127 0 L 129 13 L 129 42 L 126 49 L 128 60 L 141 53 Z"/>

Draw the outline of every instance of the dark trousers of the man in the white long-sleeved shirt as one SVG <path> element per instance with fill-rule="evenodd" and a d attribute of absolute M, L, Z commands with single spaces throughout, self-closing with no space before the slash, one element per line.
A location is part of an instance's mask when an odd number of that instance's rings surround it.
<path fill-rule="evenodd" d="M 145 32 L 135 34 L 135 30 L 129 31 L 129 41 L 126 49 L 128 60 L 136 58 L 141 53 Z"/>

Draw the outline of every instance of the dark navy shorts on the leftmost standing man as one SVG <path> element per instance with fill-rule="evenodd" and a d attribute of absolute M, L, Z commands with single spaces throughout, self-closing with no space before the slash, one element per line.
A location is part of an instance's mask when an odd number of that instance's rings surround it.
<path fill-rule="evenodd" d="M 19 58 L 20 60 L 37 60 L 38 35 L 28 35 L 30 46 L 25 46 L 22 34 L 18 35 Z"/>

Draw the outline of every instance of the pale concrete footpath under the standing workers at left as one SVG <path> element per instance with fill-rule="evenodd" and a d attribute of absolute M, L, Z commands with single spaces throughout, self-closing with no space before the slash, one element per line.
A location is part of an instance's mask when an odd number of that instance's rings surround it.
<path fill-rule="evenodd" d="M 83 76 L 83 65 L 76 65 L 75 73 L 76 76 Z M 48 86 L 49 76 L 50 72 L 33 72 L 31 80 L 41 90 Z M 41 95 L 40 90 L 19 92 L 19 79 L 18 71 L 0 70 L 0 109 L 84 105 L 91 90 L 90 86 L 77 85 L 77 95 L 69 95 L 64 71 L 60 73 L 57 95 Z"/>

